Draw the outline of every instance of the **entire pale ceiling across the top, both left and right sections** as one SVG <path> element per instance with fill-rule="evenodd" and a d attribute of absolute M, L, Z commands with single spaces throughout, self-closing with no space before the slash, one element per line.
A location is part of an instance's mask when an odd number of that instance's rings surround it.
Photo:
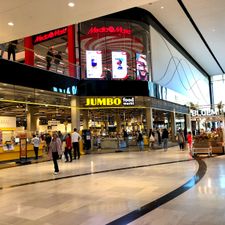
<path fill-rule="evenodd" d="M 0 0 L 0 43 L 138 6 L 151 12 L 209 75 L 224 73 L 224 0 L 182 0 L 211 52 L 179 0 L 71 1 L 73 8 L 69 0 Z"/>

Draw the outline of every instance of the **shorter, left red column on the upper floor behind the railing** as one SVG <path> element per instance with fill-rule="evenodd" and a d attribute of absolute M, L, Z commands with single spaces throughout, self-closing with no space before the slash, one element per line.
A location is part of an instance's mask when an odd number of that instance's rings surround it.
<path fill-rule="evenodd" d="M 34 66 L 34 45 L 32 37 L 24 38 L 25 64 Z"/>

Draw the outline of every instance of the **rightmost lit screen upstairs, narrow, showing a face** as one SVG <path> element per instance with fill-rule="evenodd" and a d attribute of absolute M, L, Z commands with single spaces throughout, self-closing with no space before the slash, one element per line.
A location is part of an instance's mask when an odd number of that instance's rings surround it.
<path fill-rule="evenodd" d="M 136 53 L 136 71 L 137 80 L 148 80 L 149 72 L 146 55 Z"/>

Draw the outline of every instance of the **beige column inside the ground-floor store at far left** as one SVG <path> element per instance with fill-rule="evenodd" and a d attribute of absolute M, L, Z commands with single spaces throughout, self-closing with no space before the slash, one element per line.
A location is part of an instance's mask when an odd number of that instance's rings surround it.
<path fill-rule="evenodd" d="M 27 106 L 27 131 L 36 132 L 38 130 L 39 116 L 36 116 L 38 110 L 31 105 Z"/>

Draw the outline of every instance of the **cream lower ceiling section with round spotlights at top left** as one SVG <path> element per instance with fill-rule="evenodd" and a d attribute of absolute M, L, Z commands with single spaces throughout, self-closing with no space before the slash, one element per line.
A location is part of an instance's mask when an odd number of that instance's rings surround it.
<path fill-rule="evenodd" d="M 0 0 L 0 43 L 155 1 L 157 0 Z M 74 2 L 75 7 L 68 7 L 68 2 Z M 8 26 L 10 21 L 15 24 L 13 27 Z"/>

